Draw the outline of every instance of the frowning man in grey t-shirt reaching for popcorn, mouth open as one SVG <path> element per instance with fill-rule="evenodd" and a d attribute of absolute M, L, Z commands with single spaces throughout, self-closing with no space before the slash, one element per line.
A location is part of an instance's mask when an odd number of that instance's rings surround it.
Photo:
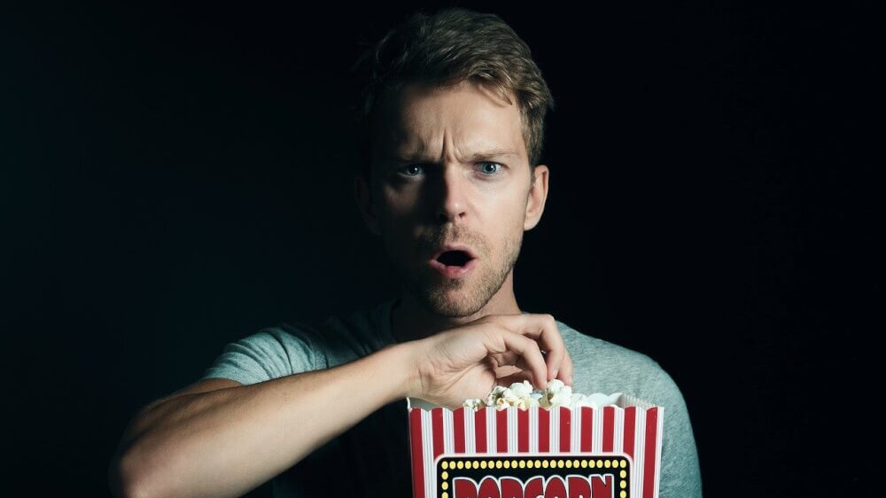
<path fill-rule="evenodd" d="M 548 195 L 552 99 L 494 15 L 417 15 L 367 59 L 366 165 L 355 195 L 402 281 L 369 313 L 262 331 L 130 424 L 125 496 L 409 496 L 404 399 L 456 407 L 494 385 L 558 378 L 665 408 L 661 496 L 699 496 L 680 391 L 657 363 L 522 313 L 513 268 Z M 573 364 L 574 362 L 574 364 Z"/>

